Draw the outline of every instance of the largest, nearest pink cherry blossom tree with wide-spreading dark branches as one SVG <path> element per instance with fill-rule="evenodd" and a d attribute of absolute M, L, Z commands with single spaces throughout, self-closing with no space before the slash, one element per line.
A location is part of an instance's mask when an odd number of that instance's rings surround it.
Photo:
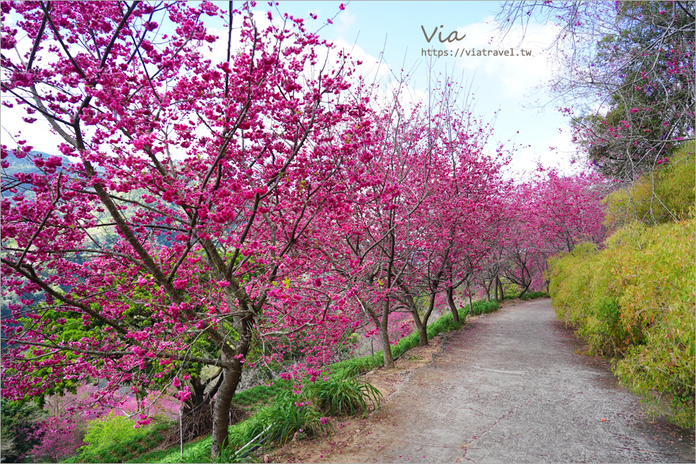
<path fill-rule="evenodd" d="M 260 29 L 231 2 L 7 1 L 2 15 L 3 105 L 45 118 L 78 160 L 34 156 L 40 174 L 3 179 L 3 292 L 22 298 L 2 323 L 3 397 L 102 379 L 93 401 L 123 384 L 186 401 L 189 371 L 214 366 L 216 456 L 251 346 L 320 339 L 311 368 L 354 321 L 310 239 L 345 208 L 369 129 L 348 124 L 365 112 L 346 96 L 351 62 L 301 19 Z M 216 15 L 226 38 L 205 28 Z M 220 63 L 202 51 L 216 40 Z"/>

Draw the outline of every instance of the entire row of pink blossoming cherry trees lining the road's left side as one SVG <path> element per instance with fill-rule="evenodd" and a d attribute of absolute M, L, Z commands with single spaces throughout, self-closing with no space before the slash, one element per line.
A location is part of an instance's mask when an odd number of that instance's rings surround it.
<path fill-rule="evenodd" d="M 246 365 L 299 349 L 293 374 L 315 380 L 368 323 L 393 367 L 393 312 L 427 344 L 464 282 L 538 286 L 548 253 L 601 233 L 596 179 L 505 180 L 503 147 L 484 151 L 489 129 L 446 92 L 377 102 L 301 19 L 260 29 L 207 2 L 2 15 L 2 104 L 63 138 L 63 157 L 2 146 L 3 169 L 35 168 L 2 179 L 4 398 L 95 384 L 81 406 L 109 406 L 127 385 L 147 424 L 148 392 L 174 389 L 213 404 L 216 456 Z M 221 63 L 201 51 L 216 15 Z"/>

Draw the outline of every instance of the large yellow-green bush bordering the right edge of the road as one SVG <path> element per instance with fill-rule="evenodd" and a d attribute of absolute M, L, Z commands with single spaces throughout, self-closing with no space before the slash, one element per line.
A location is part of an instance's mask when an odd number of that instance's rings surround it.
<path fill-rule="evenodd" d="M 617 230 L 606 249 L 583 244 L 550 262 L 557 316 L 593 353 L 612 356 L 619 381 L 651 413 L 693 426 L 695 305 L 693 217 Z"/>

